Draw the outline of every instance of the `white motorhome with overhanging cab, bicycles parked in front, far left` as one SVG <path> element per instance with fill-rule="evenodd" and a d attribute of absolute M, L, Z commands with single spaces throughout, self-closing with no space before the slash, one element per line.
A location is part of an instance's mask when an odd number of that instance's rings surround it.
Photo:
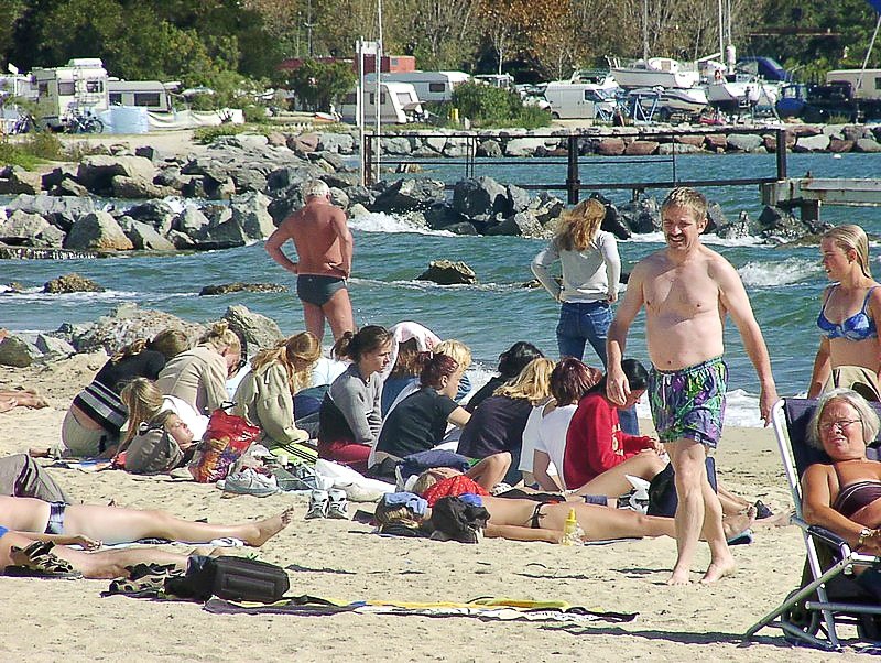
<path fill-rule="evenodd" d="M 61 127 L 73 109 L 97 115 L 110 106 L 107 69 L 99 57 L 77 57 L 63 67 L 35 68 L 36 102 L 43 122 Z"/>

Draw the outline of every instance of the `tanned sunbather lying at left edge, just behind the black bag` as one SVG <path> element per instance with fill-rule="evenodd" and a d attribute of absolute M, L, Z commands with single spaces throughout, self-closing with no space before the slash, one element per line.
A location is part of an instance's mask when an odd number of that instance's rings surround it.
<path fill-rule="evenodd" d="M 0 526 L 0 575 L 3 574 L 7 566 L 28 565 L 29 559 L 22 551 L 39 541 L 36 536 L 26 532 L 8 531 Z M 83 574 L 85 578 L 108 579 L 128 577 L 129 569 L 127 567 L 135 564 L 172 564 L 184 569 L 188 558 L 188 555 L 159 547 L 84 552 L 65 545 L 55 545 L 52 547 L 52 554 L 67 562 L 73 570 Z"/>

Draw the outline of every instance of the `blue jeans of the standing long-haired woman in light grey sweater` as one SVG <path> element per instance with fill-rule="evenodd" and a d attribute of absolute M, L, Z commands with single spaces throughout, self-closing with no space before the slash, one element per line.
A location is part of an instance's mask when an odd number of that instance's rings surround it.
<path fill-rule="evenodd" d="M 559 356 L 584 360 L 585 346 L 590 347 L 606 369 L 606 337 L 612 324 L 612 307 L 607 302 L 564 302 L 557 323 L 557 348 Z M 621 430 L 629 435 L 640 434 L 637 409 L 619 410 Z"/>

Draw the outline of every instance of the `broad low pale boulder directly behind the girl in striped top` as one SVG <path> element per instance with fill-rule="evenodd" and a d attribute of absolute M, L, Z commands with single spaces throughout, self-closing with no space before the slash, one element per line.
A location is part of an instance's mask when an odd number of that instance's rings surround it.
<path fill-rule="evenodd" d="M 112 355 L 122 346 L 141 338 L 153 338 L 163 329 L 184 332 L 192 343 L 203 334 L 205 327 L 188 323 L 162 311 L 139 308 L 135 304 L 120 304 L 109 315 L 99 317 L 94 325 L 75 328 L 72 343 L 78 352 L 94 352 L 104 348 Z"/>

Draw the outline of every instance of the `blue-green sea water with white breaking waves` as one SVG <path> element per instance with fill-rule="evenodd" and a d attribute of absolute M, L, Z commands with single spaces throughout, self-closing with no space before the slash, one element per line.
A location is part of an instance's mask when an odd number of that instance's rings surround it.
<path fill-rule="evenodd" d="M 792 154 L 791 175 L 815 177 L 871 177 L 879 173 L 881 156 L 871 154 Z M 774 155 L 694 155 L 676 163 L 679 180 L 771 176 Z M 463 166 L 438 162 L 426 166 L 424 176 L 455 182 Z M 670 178 L 667 164 L 627 164 L 614 159 L 581 170 L 583 182 L 652 182 Z M 476 175 L 490 175 L 502 183 L 559 183 L 565 164 L 543 160 L 511 160 L 510 165 L 481 166 Z M 629 192 L 607 192 L 618 203 Z M 666 192 L 653 192 L 663 196 Z M 705 189 L 728 218 L 746 210 L 752 218 L 761 211 L 755 186 Z M 562 194 L 557 194 L 561 195 Z M 7 198 L 8 199 L 8 198 Z M 0 199 L 0 205 L 6 200 Z M 115 202 L 117 206 L 123 202 Z M 881 220 L 871 207 L 824 207 L 822 218 L 833 224 L 856 222 L 870 233 L 881 233 Z M 526 289 L 532 279 L 530 261 L 543 240 L 516 237 L 467 237 L 416 228 L 404 218 L 370 214 L 351 220 L 355 265 L 350 294 L 359 325 L 392 325 L 416 320 L 442 338 L 458 338 L 472 350 L 471 377 L 486 380 L 498 356 L 515 340 L 530 340 L 556 357 L 555 327 L 558 305 L 542 289 Z M 819 265 L 817 247 L 781 247 L 754 239 L 725 241 L 706 236 L 704 241 L 721 252 L 741 275 L 755 317 L 768 344 L 781 395 L 803 394 L 807 389 L 819 341 L 815 319 L 819 295 L 827 279 Z M 660 233 L 637 236 L 620 242 L 624 271 L 663 247 Z M 289 250 L 292 250 L 289 247 Z M 872 267 L 881 276 L 878 247 L 872 244 Z M 439 286 L 416 281 L 431 260 L 446 258 L 467 262 L 477 273 L 476 285 Z M 4 260 L 0 283 L 19 282 L 25 292 L 0 292 L 0 326 L 13 332 L 57 329 L 62 323 L 87 323 L 108 313 L 116 304 L 137 303 L 185 319 L 206 322 L 220 317 L 227 306 L 243 304 L 275 319 L 285 334 L 303 329 L 302 308 L 295 294 L 295 276 L 284 272 L 263 250 L 262 243 L 226 251 L 174 256 L 120 254 L 96 260 Z M 102 293 L 45 295 L 43 284 L 59 274 L 77 272 L 97 281 Z M 198 296 L 203 286 L 233 281 L 274 282 L 289 285 L 287 293 L 235 293 Z M 0 291 L 3 291 L 0 285 Z M 627 355 L 648 363 L 642 314 L 634 322 Z M 759 425 L 758 382 L 737 328 L 726 328 L 726 358 L 730 367 L 727 421 Z M 588 347 L 588 363 L 597 358 Z M 648 414 L 641 405 L 642 414 Z"/>

